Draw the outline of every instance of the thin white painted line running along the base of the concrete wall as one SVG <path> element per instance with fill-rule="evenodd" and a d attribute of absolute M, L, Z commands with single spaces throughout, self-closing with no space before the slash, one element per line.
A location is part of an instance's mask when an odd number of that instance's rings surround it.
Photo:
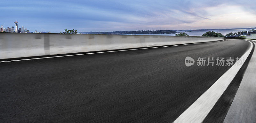
<path fill-rule="evenodd" d="M 221 40 L 221 41 L 225 41 L 225 40 L 226 40 L 226 39 Z M 221 41 L 215 41 L 215 42 L 221 42 Z M 213 42 L 200 42 L 200 43 L 213 43 Z M 199 44 L 199 43 L 191 43 L 191 44 Z M 181 45 L 190 45 L 190 44 L 178 44 L 178 45 L 172 45 L 172 46 L 181 46 Z M 161 47 L 172 47 L 172 46 L 159 46 L 159 47 L 138 48 L 138 49 L 129 49 L 129 50 L 141 50 L 141 49 L 151 49 L 151 48 L 161 48 Z M 14 62 L 14 61 L 34 60 L 34 59 L 43 59 L 43 58 L 56 58 L 56 57 L 78 56 L 78 55 L 87 55 L 87 54 L 96 54 L 96 53 L 119 52 L 119 51 L 128 51 L 128 50 L 116 50 L 116 51 L 83 53 L 83 54 L 63 55 L 63 56 L 52 56 L 52 57 L 41 57 L 41 58 L 28 58 L 28 59 L 19 59 L 19 60 L 10 60 L 10 61 L 0 61 L 0 63 L 2 63 L 2 62 Z"/>

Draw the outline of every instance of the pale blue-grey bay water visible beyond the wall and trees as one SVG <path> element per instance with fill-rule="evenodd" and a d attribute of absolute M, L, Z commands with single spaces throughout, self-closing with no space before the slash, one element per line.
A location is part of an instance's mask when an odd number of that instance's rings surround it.
<path fill-rule="evenodd" d="M 221 33 L 222 35 L 226 35 L 230 32 L 232 32 L 232 33 L 237 33 L 239 31 L 240 32 L 242 32 L 242 31 L 248 32 L 248 30 L 249 29 L 204 30 L 204 31 L 186 30 L 186 31 L 192 31 L 192 32 L 185 32 L 185 33 L 187 33 L 189 36 L 202 36 L 204 33 L 208 32 L 208 31 L 213 31 L 213 32 Z M 175 34 L 140 34 L 140 35 L 172 35 L 172 36 L 175 36 Z"/>

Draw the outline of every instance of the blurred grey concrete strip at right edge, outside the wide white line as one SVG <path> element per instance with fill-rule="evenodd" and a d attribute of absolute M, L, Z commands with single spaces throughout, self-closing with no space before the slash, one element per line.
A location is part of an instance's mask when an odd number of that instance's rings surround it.
<path fill-rule="evenodd" d="M 249 40 L 256 45 L 256 42 Z M 236 92 L 236 96 L 223 123 L 255 123 L 255 94 L 256 94 L 256 49 L 252 54 L 252 58 L 246 68 L 244 77 Z"/>

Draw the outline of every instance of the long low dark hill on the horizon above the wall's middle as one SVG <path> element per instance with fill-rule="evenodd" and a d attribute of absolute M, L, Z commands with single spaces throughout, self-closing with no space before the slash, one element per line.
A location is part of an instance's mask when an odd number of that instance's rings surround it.
<path fill-rule="evenodd" d="M 138 31 L 114 31 L 114 32 L 79 32 L 83 34 L 118 34 L 118 35 L 125 35 L 125 34 L 173 34 L 179 33 L 178 31 L 173 30 L 138 30 Z"/>

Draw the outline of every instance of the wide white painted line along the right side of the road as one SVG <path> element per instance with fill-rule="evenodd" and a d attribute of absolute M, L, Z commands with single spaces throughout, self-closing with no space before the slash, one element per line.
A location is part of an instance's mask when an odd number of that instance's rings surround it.
<path fill-rule="evenodd" d="M 244 58 L 244 60 L 240 58 L 237 61 L 238 63 L 242 62 L 244 64 L 245 59 L 249 56 L 253 48 L 252 42 L 250 43 L 251 47 L 241 57 Z M 226 73 L 190 105 L 173 123 L 202 123 L 241 67 L 242 66 L 236 66 L 235 64 L 231 66 Z"/>

